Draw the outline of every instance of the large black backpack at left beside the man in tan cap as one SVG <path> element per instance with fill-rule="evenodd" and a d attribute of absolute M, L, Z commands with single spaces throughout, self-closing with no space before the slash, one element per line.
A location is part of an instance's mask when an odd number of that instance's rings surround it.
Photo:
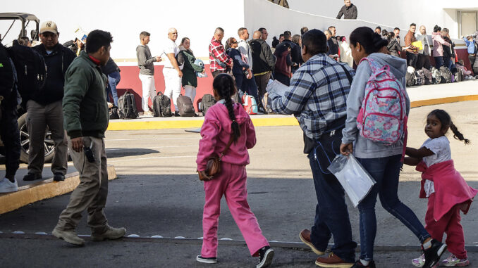
<path fill-rule="evenodd" d="M 32 96 L 40 91 L 47 81 L 47 65 L 42 55 L 28 46 L 13 40 L 11 57 L 18 75 L 18 92 Z"/>

